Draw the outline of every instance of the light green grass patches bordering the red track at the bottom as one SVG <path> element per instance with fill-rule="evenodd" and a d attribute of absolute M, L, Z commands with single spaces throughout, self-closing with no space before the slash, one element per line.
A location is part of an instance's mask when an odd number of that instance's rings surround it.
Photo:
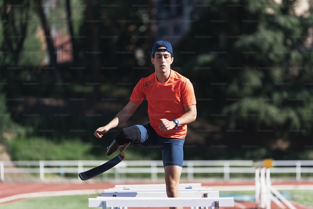
<path fill-rule="evenodd" d="M 254 191 L 220 191 L 220 194 L 242 194 L 254 195 Z M 299 202 L 301 204 L 313 206 L 313 191 L 312 190 L 290 190 L 287 191 L 291 201 Z M 1 205 L 1 209 L 87 209 L 88 198 L 100 196 L 100 194 L 91 195 L 75 195 L 75 196 L 55 196 L 55 197 L 38 197 L 31 198 L 13 203 Z"/>

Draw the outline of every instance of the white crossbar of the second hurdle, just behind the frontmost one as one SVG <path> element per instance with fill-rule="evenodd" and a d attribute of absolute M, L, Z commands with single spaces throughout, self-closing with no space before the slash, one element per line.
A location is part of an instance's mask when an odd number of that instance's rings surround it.
<path fill-rule="evenodd" d="M 180 191 L 180 197 L 219 197 L 219 191 Z M 165 191 L 154 192 L 103 192 L 102 197 L 167 197 Z"/>

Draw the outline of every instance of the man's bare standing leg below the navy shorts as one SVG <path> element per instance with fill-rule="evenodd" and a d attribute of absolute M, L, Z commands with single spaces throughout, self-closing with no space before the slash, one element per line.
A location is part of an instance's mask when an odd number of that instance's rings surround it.
<path fill-rule="evenodd" d="M 179 179 L 182 173 L 180 166 L 165 166 L 165 184 L 167 197 L 180 197 L 179 195 Z M 182 209 L 182 207 L 170 207 L 170 209 Z"/>

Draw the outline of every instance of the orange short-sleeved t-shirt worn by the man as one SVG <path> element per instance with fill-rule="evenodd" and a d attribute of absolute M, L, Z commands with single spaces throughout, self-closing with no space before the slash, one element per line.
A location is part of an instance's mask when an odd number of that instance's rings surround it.
<path fill-rule="evenodd" d="M 152 128 L 157 135 L 166 138 L 182 139 L 187 134 L 187 125 L 177 129 L 161 131 L 161 118 L 174 120 L 186 113 L 184 107 L 195 105 L 196 97 L 189 79 L 171 69 L 167 82 L 160 84 L 156 73 L 140 79 L 131 94 L 131 101 L 140 104 L 143 99 L 148 102 L 148 115 Z"/>

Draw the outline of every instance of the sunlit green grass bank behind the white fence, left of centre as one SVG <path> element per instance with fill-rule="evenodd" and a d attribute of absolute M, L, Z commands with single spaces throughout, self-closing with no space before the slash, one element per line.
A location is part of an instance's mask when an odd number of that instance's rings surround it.
<path fill-rule="evenodd" d="M 23 131 L 25 133 L 26 130 Z M 102 141 L 104 141 L 103 139 Z M 106 146 L 100 140 L 83 142 L 79 138 L 67 140 L 51 140 L 46 137 L 21 135 L 6 142 L 7 150 L 14 161 L 21 160 L 110 160 L 106 155 Z M 139 150 L 139 151 L 138 151 Z M 156 152 L 157 151 L 157 152 Z M 158 153 L 158 154 L 157 154 Z M 161 150 L 140 148 L 131 145 L 126 151 L 127 160 L 143 158 L 161 160 Z M 150 154 L 150 155 L 148 155 Z M 148 155 L 148 156 L 147 156 Z"/>

